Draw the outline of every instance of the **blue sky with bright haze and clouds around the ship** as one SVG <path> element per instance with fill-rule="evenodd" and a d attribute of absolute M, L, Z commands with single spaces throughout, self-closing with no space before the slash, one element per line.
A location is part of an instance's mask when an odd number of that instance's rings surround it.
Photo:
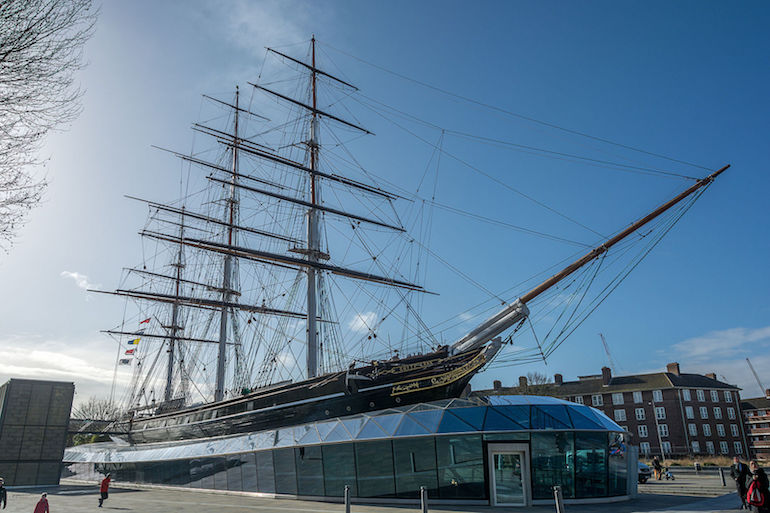
<path fill-rule="evenodd" d="M 475 388 L 493 379 L 513 383 L 532 371 L 566 379 L 598 373 L 607 363 L 602 332 L 622 372 L 679 361 L 684 372 L 716 372 L 755 396 L 746 357 L 770 383 L 767 26 L 770 7 L 761 2 L 105 2 L 79 77 L 87 91 L 83 115 L 49 137 L 45 202 L 11 253 L 0 256 L 0 285 L 14 292 L 0 299 L 0 379 L 74 379 L 80 397 L 108 390 L 115 345 L 98 330 L 114 325 L 122 308 L 78 285 L 114 288 L 120 269 L 141 258 L 136 232 L 146 210 L 124 194 L 164 199 L 166 190 L 178 190 L 178 164 L 150 145 L 188 149 L 201 93 L 245 87 L 262 67 L 264 46 L 301 43 L 315 33 L 321 63 L 367 98 L 448 130 L 706 173 L 500 115 L 350 55 L 593 136 L 712 169 L 732 164 L 547 365 L 491 369 Z M 301 57 L 306 46 L 285 51 Z M 357 156 L 379 176 L 414 187 L 432 148 L 358 107 L 357 119 L 377 136 L 356 141 Z M 431 141 L 440 135 L 418 132 Z M 451 137 L 445 144 L 601 233 L 687 186 Z M 596 242 L 591 232 L 456 161 L 442 162 L 437 200 Z M 434 227 L 433 249 L 495 292 L 575 252 L 463 218 L 437 220 L 443 222 Z M 426 301 L 429 321 L 489 299 L 434 264 L 426 285 L 442 296 Z"/>

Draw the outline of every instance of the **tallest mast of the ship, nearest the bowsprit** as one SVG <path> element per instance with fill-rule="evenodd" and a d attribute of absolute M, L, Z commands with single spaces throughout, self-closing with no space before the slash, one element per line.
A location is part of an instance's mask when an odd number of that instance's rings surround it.
<path fill-rule="evenodd" d="M 310 140 L 308 150 L 310 152 L 310 169 L 316 170 L 318 161 L 318 104 L 316 95 L 316 67 L 315 67 L 315 35 L 310 40 L 312 53 L 312 68 L 310 70 L 310 89 L 313 95 L 313 110 L 310 118 Z M 310 208 L 307 211 L 307 257 L 311 262 L 318 262 L 320 241 L 318 233 L 318 219 L 315 205 L 316 181 L 315 174 L 310 173 Z M 316 325 L 317 311 L 317 284 L 318 276 L 315 267 L 307 268 L 307 377 L 312 378 L 318 374 L 318 328 Z"/>

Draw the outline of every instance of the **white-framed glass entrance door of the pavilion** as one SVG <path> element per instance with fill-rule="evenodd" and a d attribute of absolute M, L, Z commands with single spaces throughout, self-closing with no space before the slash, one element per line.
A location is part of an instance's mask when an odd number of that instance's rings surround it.
<path fill-rule="evenodd" d="M 528 450 L 519 444 L 490 444 L 490 498 L 493 506 L 526 506 L 529 499 Z"/>

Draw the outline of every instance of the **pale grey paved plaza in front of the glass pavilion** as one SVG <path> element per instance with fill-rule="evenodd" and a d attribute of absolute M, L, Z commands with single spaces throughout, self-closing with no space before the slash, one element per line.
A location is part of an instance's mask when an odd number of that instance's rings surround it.
<path fill-rule="evenodd" d="M 697 478 L 695 478 L 697 479 Z M 590 506 L 567 505 L 568 513 L 652 513 L 663 511 L 686 512 L 733 512 L 736 511 L 737 498 L 734 492 L 721 497 L 704 498 L 682 495 L 683 488 L 694 489 L 699 483 L 686 479 L 675 482 L 655 482 L 645 485 L 645 491 L 638 499 L 623 503 L 598 504 Z M 713 483 L 700 483 L 711 485 Z M 708 487 L 708 486 L 707 486 Z M 63 485 L 48 490 L 48 500 L 52 513 L 83 513 L 85 511 L 104 512 L 125 511 L 141 513 L 235 513 L 235 512 L 276 512 L 276 513 L 342 513 L 342 504 L 309 502 L 297 500 L 264 499 L 252 496 L 229 495 L 192 490 L 129 489 L 116 487 L 110 490 L 110 498 L 101 510 L 97 506 L 98 487 L 82 485 Z M 42 490 L 10 490 L 8 508 L 2 513 L 31 513 Z M 694 493 L 692 491 L 688 493 Z M 353 504 L 352 513 L 407 513 L 417 512 L 419 507 L 377 506 Z M 431 512 L 501 512 L 528 511 L 552 513 L 553 506 L 538 506 L 527 509 L 491 508 L 488 506 L 436 506 Z"/>

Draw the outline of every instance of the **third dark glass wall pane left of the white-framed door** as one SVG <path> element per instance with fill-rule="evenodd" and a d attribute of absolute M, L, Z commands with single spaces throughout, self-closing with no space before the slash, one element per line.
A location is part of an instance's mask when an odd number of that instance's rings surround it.
<path fill-rule="evenodd" d="M 390 440 L 355 444 L 359 497 L 393 497 L 393 448 Z"/>

